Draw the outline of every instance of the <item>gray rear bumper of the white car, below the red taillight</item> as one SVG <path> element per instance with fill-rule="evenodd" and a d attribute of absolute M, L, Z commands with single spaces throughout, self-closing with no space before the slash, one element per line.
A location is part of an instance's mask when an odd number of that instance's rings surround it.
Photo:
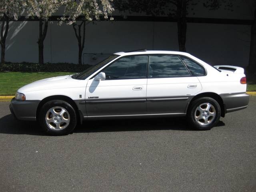
<path fill-rule="evenodd" d="M 220 94 L 225 106 L 225 113 L 248 107 L 250 96 L 246 93 Z"/>

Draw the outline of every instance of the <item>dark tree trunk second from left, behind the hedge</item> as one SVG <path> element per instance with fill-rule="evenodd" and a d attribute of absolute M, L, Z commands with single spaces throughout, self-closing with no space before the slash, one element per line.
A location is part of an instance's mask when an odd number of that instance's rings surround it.
<path fill-rule="evenodd" d="M 44 25 L 44 27 L 43 27 Z M 44 39 L 47 34 L 48 21 L 39 21 L 39 38 L 38 38 L 38 63 L 44 64 Z"/>

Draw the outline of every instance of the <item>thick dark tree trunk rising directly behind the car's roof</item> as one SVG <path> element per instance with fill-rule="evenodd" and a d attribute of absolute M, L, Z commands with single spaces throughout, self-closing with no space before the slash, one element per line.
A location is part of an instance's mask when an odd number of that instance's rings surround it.
<path fill-rule="evenodd" d="M 186 0 L 177 1 L 177 26 L 178 26 L 178 43 L 179 51 L 186 52 Z"/>

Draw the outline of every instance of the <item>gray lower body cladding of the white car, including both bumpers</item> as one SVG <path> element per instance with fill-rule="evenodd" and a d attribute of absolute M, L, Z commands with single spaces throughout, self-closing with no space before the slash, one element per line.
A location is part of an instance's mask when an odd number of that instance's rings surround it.
<path fill-rule="evenodd" d="M 220 94 L 225 113 L 241 110 L 248 106 L 246 93 Z M 130 118 L 153 116 L 184 116 L 192 96 L 90 99 L 74 100 L 82 119 L 87 118 Z M 20 101 L 13 98 L 11 113 L 19 120 L 36 120 L 40 100 Z"/>

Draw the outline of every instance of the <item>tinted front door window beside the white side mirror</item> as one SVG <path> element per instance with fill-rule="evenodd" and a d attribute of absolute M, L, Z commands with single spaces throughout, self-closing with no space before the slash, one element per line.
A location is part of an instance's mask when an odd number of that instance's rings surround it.
<path fill-rule="evenodd" d="M 147 64 L 148 56 L 124 57 L 102 70 L 102 72 L 105 72 L 106 80 L 146 78 Z"/>

